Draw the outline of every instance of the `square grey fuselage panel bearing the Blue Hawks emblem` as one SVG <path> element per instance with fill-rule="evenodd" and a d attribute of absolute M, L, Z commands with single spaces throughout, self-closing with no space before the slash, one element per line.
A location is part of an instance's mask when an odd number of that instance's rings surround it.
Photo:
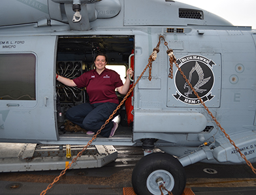
<path fill-rule="evenodd" d="M 219 53 L 179 53 L 177 63 L 208 107 L 219 107 L 221 96 L 221 55 Z M 167 107 L 199 107 L 200 101 L 178 68 L 168 79 Z"/>

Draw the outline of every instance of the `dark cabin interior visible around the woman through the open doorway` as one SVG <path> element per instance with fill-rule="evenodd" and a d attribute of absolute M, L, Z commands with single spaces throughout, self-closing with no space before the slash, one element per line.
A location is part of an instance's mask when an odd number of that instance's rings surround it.
<path fill-rule="evenodd" d="M 129 57 L 133 53 L 133 49 L 133 36 L 59 36 L 56 72 L 63 77 L 74 79 L 84 72 L 93 70 L 95 68 L 93 64 L 95 55 L 105 53 L 108 57 L 106 68 L 118 72 L 124 82 L 126 70 L 129 67 Z M 69 127 L 65 119 L 65 112 L 69 108 L 89 102 L 86 88 L 69 87 L 56 81 L 56 94 L 59 136 L 66 136 L 66 138 L 67 136 L 88 136 L 84 129 Z M 121 102 L 124 96 L 117 91 L 116 94 Z M 121 106 L 118 116 L 114 120 L 119 123 L 118 131 L 115 133 L 116 137 L 132 135 L 133 123 L 127 123 L 125 103 Z"/>

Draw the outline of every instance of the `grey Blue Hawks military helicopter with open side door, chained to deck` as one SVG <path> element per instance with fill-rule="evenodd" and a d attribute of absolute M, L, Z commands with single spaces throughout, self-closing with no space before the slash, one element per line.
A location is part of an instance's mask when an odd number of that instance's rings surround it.
<path fill-rule="evenodd" d="M 0 15 L 0 142 L 91 140 L 65 130 L 65 112 L 88 102 L 86 88 L 61 85 L 56 73 L 79 77 L 106 53 L 109 66 L 120 75 L 133 67 L 131 84 L 139 81 L 116 134 L 92 144 L 142 146 L 136 194 L 160 194 L 160 185 L 182 194 L 184 166 L 196 162 L 256 162 L 251 27 L 172 0 L 9 0 Z"/>

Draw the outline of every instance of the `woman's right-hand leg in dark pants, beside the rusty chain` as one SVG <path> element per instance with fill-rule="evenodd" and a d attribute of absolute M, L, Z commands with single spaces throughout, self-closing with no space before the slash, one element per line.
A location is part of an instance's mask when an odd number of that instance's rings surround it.
<path fill-rule="evenodd" d="M 84 118 L 83 126 L 86 130 L 97 132 L 101 129 L 101 126 L 106 122 L 109 116 L 118 106 L 116 103 L 95 103 L 92 105 L 94 107 L 91 112 Z M 113 127 L 112 120 L 106 124 L 105 128 L 101 130 L 100 135 L 109 137 L 111 129 Z"/>

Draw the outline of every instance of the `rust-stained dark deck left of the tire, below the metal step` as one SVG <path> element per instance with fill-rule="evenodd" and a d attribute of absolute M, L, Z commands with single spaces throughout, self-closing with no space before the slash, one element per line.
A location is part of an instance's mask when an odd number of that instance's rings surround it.
<path fill-rule="evenodd" d="M 143 157 L 140 147 L 115 146 L 118 159 L 102 168 L 67 170 L 47 194 L 122 194 L 131 187 L 131 173 Z M 0 173 L 0 194 L 40 194 L 61 170 Z"/>

